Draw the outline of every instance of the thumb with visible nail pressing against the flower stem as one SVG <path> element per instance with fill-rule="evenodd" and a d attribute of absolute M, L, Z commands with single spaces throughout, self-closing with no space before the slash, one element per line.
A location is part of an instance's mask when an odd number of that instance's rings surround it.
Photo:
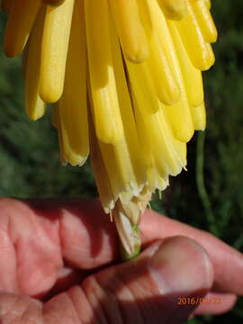
<path fill-rule="evenodd" d="M 202 247 L 190 238 L 175 237 L 89 276 L 81 289 L 74 287 L 68 295 L 84 323 L 174 324 L 188 318 L 197 306 L 192 298 L 208 293 L 212 280 Z M 188 302 L 180 304 L 182 298 Z"/>

